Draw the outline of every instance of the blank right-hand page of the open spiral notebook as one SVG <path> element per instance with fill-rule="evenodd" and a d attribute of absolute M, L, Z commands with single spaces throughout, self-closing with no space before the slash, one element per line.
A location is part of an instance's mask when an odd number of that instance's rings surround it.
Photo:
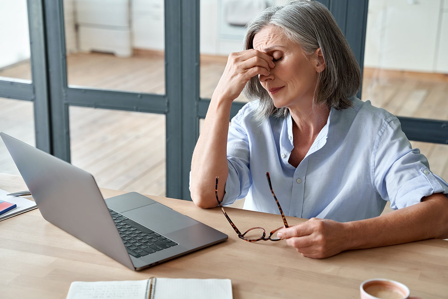
<path fill-rule="evenodd" d="M 233 299 L 230 279 L 156 278 L 154 299 Z"/>

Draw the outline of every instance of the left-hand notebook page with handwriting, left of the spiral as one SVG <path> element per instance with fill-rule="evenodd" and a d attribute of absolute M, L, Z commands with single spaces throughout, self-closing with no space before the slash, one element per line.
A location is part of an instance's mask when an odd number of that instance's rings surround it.
<path fill-rule="evenodd" d="M 72 282 L 67 299 L 146 299 L 148 280 Z"/>

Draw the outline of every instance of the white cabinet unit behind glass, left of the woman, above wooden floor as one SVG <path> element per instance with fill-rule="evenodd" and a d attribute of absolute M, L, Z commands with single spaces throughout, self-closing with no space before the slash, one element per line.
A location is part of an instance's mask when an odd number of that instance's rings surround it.
<path fill-rule="evenodd" d="M 80 51 L 132 55 L 129 0 L 76 0 Z"/>

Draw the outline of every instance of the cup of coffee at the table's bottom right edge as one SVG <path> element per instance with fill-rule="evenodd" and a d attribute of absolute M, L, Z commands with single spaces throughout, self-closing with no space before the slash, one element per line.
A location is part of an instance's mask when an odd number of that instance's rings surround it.
<path fill-rule="evenodd" d="M 374 278 L 362 282 L 359 287 L 361 299 L 411 299 L 410 291 L 401 282 L 390 279 Z"/>

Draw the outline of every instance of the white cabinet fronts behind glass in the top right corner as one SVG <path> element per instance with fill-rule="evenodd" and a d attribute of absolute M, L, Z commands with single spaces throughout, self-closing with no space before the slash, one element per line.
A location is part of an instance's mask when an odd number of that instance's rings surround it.
<path fill-rule="evenodd" d="M 364 65 L 447 73 L 447 7 L 448 0 L 370 0 Z"/>

